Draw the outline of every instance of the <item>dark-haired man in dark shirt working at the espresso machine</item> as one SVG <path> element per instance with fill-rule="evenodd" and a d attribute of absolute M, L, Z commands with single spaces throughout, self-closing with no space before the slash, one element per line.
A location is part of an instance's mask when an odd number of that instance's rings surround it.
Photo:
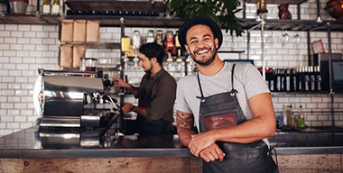
<path fill-rule="evenodd" d="M 113 78 L 115 87 L 126 87 L 135 97 L 138 106 L 125 103 L 124 113 L 137 113 L 137 120 L 126 121 L 125 133 L 171 134 L 174 133 L 173 106 L 176 95 L 175 79 L 162 68 L 164 50 L 156 43 L 147 43 L 139 49 L 139 65 L 144 68 L 139 87 L 133 87 L 121 78 Z"/>

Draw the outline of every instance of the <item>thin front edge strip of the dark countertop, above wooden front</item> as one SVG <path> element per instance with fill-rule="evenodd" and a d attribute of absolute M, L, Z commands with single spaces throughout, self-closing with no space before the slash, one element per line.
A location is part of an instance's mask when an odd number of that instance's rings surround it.
<path fill-rule="evenodd" d="M 343 154 L 339 147 L 282 147 L 275 148 L 277 155 Z M 44 158 L 179 158 L 193 157 L 183 149 L 89 149 L 89 150 L 0 150 L 0 159 Z"/>

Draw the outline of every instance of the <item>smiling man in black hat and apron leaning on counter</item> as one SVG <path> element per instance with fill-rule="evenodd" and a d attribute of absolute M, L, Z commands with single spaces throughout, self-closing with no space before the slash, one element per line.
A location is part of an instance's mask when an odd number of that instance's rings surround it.
<path fill-rule="evenodd" d="M 273 103 L 258 70 L 219 59 L 223 35 L 209 18 L 186 21 L 178 36 L 199 69 L 178 82 L 175 109 L 181 144 L 204 160 L 204 173 L 278 172 L 266 139 L 276 128 Z"/>

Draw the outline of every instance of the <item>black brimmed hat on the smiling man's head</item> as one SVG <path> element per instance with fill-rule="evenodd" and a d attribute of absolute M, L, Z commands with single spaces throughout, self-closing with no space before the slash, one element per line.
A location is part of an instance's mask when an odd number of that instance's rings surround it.
<path fill-rule="evenodd" d="M 190 27 L 198 24 L 203 24 L 209 26 L 209 28 L 212 30 L 214 37 L 218 38 L 218 49 L 221 46 L 221 43 L 223 42 L 223 33 L 221 32 L 219 26 L 217 23 L 212 21 L 211 19 L 207 17 L 193 17 L 187 21 L 185 21 L 179 28 L 179 35 L 178 39 L 181 44 L 181 48 L 185 49 L 184 45 L 186 44 L 186 33 L 190 29 Z M 217 49 L 217 50 L 218 50 Z"/>

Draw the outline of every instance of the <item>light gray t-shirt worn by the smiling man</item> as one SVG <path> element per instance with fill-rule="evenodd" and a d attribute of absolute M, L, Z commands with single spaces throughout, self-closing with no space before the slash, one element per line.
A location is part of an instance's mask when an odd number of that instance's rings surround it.
<path fill-rule="evenodd" d="M 232 88 L 231 70 L 233 64 L 226 62 L 224 67 L 213 76 L 204 76 L 199 73 L 202 92 L 205 97 L 228 92 Z M 234 71 L 234 88 L 238 91 L 237 99 L 246 119 L 253 118 L 247 100 L 252 96 L 270 93 L 260 72 L 251 64 L 236 64 Z M 201 96 L 197 73 L 183 77 L 177 85 L 175 109 L 184 113 L 193 114 L 199 130 L 199 106 Z"/>

